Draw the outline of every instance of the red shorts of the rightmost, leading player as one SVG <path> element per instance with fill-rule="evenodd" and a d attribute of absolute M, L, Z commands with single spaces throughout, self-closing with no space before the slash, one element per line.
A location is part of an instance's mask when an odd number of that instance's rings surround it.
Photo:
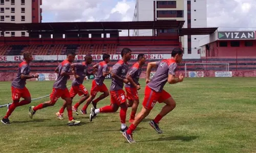
<path fill-rule="evenodd" d="M 156 92 L 152 90 L 150 87 L 146 86 L 145 97 L 142 105 L 144 108 L 152 110 L 156 105 L 157 101 L 158 103 L 163 103 L 163 101 L 168 99 L 169 97 L 172 96 L 165 90 L 162 90 L 161 92 Z"/>

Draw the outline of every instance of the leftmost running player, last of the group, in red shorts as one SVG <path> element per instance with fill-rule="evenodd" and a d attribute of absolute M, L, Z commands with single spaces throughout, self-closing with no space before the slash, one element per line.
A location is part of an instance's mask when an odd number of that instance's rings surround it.
<path fill-rule="evenodd" d="M 13 103 L 10 105 L 7 114 L 1 120 L 4 124 L 9 124 L 9 116 L 11 116 L 12 112 L 16 107 L 24 106 L 31 103 L 31 96 L 29 90 L 26 88 L 26 80 L 31 78 L 38 78 L 38 74 L 29 75 L 30 73 L 30 62 L 33 60 L 32 54 L 29 52 L 25 52 L 23 54 L 24 60 L 22 63 L 18 65 L 18 73 L 16 78 L 12 81 L 12 100 Z M 19 99 L 23 97 L 24 100 L 19 101 Z"/>

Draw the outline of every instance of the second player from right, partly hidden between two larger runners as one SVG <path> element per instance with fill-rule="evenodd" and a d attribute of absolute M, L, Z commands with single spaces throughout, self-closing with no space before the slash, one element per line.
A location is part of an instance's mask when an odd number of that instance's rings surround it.
<path fill-rule="evenodd" d="M 128 107 L 132 107 L 132 113 L 129 122 L 132 123 L 135 118 L 135 114 L 139 105 L 138 90 L 140 90 L 140 74 L 142 72 L 142 66 L 145 64 L 146 58 L 144 54 L 138 55 L 138 62 L 133 65 L 127 76 L 129 84 L 125 84 L 126 98 L 128 99 Z"/>

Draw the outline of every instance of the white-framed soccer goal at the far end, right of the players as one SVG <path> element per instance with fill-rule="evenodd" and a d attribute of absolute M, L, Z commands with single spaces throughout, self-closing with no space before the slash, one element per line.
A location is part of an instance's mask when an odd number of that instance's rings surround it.
<path fill-rule="evenodd" d="M 185 77 L 232 77 L 229 63 L 185 63 Z"/>

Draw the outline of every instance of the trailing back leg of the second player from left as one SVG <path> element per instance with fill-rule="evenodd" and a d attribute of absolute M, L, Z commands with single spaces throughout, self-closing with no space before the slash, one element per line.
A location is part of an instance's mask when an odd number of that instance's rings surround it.
<path fill-rule="evenodd" d="M 54 106 L 58 98 L 62 95 L 62 90 L 61 89 L 52 89 L 52 93 L 50 95 L 50 100 L 46 101 L 45 103 L 41 103 L 37 105 L 36 107 L 31 106 L 29 107 L 29 117 L 32 119 L 33 115 L 36 113 L 36 111 L 49 107 L 49 106 Z"/>

